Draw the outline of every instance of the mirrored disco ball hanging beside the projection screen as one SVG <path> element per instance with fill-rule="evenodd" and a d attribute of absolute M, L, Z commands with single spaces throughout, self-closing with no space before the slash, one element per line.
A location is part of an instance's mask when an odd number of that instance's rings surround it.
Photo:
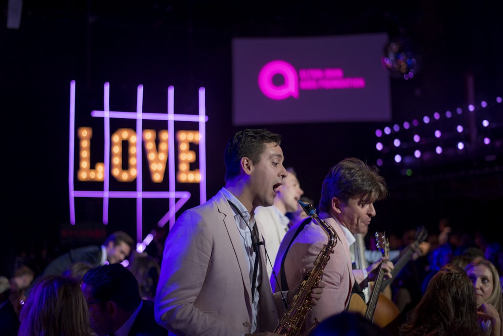
<path fill-rule="evenodd" d="M 394 39 L 386 45 L 382 61 L 393 78 L 408 80 L 417 74 L 421 57 L 407 39 Z"/>

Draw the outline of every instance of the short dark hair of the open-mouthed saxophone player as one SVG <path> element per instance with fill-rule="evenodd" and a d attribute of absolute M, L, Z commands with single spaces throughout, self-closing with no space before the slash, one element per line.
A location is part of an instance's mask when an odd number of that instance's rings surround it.
<path fill-rule="evenodd" d="M 239 174 L 241 158 L 248 157 L 253 162 L 259 162 L 265 144 L 271 142 L 281 145 L 281 135 L 263 128 L 236 132 L 225 147 L 225 181 L 229 181 Z"/>

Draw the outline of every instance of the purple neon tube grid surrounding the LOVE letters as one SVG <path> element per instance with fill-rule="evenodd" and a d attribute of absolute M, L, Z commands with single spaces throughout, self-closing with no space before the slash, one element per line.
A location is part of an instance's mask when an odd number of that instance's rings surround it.
<path fill-rule="evenodd" d="M 176 190 L 175 173 L 175 140 L 174 136 L 168 139 L 168 170 L 169 170 L 169 191 L 154 192 L 143 191 L 142 178 L 142 141 L 136 142 L 136 159 L 138 174 L 136 177 L 136 191 L 111 191 L 110 190 L 110 118 L 136 119 L 136 134 L 142 134 L 143 120 L 160 120 L 167 122 L 168 134 L 175 133 L 175 121 L 189 121 L 198 123 L 200 133 L 199 140 L 199 171 L 201 180 L 199 182 L 200 202 L 206 202 L 206 116 L 205 89 L 199 88 L 199 114 L 184 115 L 174 113 L 175 89 L 170 86 L 167 89 L 167 114 L 143 113 L 143 85 L 137 87 L 136 112 L 110 111 L 110 83 L 104 85 L 104 110 L 94 110 L 91 116 L 103 118 L 104 121 L 104 180 L 103 190 L 100 191 L 80 191 L 74 189 L 74 160 L 75 160 L 75 80 L 70 81 L 70 136 L 68 155 L 68 186 L 70 200 L 70 223 L 75 225 L 75 198 L 93 197 L 103 198 L 103 224 L 108 224 L 108 211 L 110 198 L 135 198 L 136 199 L 136 238 L 142 239 L 142 204 L 144 198 L 169 199 L 169 211 L 159 219 L 157 225 L 164 226 L 170 221 L 170 227 L 175 223 L 175 214 L 190 199 L 188 191 Z M 177 201 L 178 199 L 178 201 Z M 148 234 L 145 240 L 139 245 L 143 248 L 152 240 L 152 235 Z M 140 248 L 140 246 L 138 248 Z"/>

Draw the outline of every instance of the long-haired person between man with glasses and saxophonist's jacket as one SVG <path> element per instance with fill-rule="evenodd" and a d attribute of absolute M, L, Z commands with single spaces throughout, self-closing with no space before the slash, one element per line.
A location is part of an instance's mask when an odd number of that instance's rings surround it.
<path fill-rule="evenodd" d="M 146 253 L 140 254 L 133 251 L 128 269 L 138 281 L 141 298 L 153 301 L 155 299 L 157 284 L 159 283 L 159 263 Z"/>

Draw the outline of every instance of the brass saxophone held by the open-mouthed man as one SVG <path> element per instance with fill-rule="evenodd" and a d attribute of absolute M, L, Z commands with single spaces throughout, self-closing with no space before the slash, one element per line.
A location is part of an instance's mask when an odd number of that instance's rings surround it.
<path fill-rule="evenodd" d="M 321 281 L 323 269 L 328 263 L 330 254 L 333 253 L 333 247 L 336 246 L 338 240 L 337 233 L 330 225 L 318 217 L 316 209 L 314 209 L 312 204 L 306 204 L 301 201 L 298 202 L 302 206 L 302 209 L 326 231 L 328 234 L 328 242 L 326 245 L 323 245 L 318 257 L 316 257 L 314 261 L 313 268 L 306 273 L 300 285 L 299 292 L 294 296 L 292 304 L 288 307 L 274 330 L 274 332 L 283 336 L 296 336 L 301 331 L 307 313 L 312 309 L 310 293 Z"/>

